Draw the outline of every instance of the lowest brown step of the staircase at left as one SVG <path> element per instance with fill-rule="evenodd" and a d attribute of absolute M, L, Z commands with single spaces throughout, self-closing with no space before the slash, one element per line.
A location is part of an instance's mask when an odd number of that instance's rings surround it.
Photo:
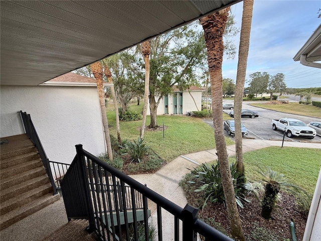
<path fill-rule="evenodd" d="M 5 213 L 4 215 L 1 215 L 0 230 L 3 230 L 6 227 L 9 227 L 10 225 L 39 211 L 40 209 L 54 203 L 59 199 L 60 199 L 59 194 L 53 196 L 52 193 L 48 193 L 45 196 L 42 196 L 40 198 L 33 200 L 32 202 L 27 202 L 27 203 L 25 202 L 25 204 L 23 204 L 19 208 L 14 209 L 8 213 Z M 68 238 L 65 240 L 68 240 Z"/>

